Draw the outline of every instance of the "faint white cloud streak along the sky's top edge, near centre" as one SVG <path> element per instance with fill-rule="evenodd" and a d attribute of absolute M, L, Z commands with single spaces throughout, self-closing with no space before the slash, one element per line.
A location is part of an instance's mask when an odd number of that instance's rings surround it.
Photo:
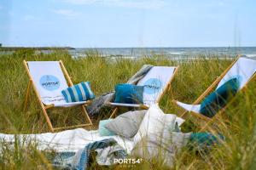
<path fill-rule="evenodd" d="M 148 9 L 163 8 L 166 6 L 166 3 L 163 0 L 62 0 L 62 2 L 75 5 L 99 4 L 110 7 Z"/>

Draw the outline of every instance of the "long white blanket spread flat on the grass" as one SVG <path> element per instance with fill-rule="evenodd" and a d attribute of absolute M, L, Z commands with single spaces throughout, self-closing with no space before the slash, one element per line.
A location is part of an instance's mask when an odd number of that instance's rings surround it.
<path fill-rule="evenodd" d="M 102 139 L 115 139 L 128 154 L 133 149 L 133 140 L 125 139 L 118 135 L 100 136 L 97 130 L 87 131 L 83 128 L 66 130 L 59 133 L 38 133 L 38 134 L 3 134 L 0 133 L 0 140 L 13 143 L 16 139 L 21 142 L 35 142 L 38 144 L 38 150 L 55 150 L 61 151 L 78 151 L 83 149 L 85 145 Z"/>

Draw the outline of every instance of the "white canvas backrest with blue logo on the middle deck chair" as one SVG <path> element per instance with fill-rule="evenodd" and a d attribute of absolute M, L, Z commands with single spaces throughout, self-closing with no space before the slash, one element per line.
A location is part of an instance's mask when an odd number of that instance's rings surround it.
<path fill-rule="evenodd" d="M 171 82 L 177 67 L 154 66 L 148 71 L 137 85 L 144 86 L 143 103 L 152 105 L 160 99 L 168 84 Z"/>

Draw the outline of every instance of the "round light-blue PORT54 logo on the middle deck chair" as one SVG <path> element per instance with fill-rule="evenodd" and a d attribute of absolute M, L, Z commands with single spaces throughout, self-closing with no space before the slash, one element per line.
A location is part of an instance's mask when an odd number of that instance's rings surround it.
<path fill-rule="evenodd" d="M 155 94 L 160 92 L 162 88 L 162 82 L 157 78 L 150 78 L 144 83 L 144 93 L 145 94 Z"/>

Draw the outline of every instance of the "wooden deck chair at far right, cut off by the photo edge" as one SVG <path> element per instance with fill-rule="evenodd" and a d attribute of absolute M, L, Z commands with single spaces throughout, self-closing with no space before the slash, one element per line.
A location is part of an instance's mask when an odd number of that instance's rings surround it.
<path fill-rule="evenodd" d="M 220 77 L 218 77 L 215 82 L 212 83 L 212 85 L 207 88 L 207 90 L 201 94 L 201 96 L 195 100 L 195 102 L 192 105 L 184 104 L 182 102 L 179 102 L 177 100 L 173 100 L 173 102 L 183 108 L 185 111 L 181 116 L 185 116 L 187 113 L 191 113 L 192 116 L 196 116 L 200 118 L 201 120 L 204 120 L 205 127 L 210 125 L 214 119 L 221 113 L 225 111 L 225 109 L 232 104 L 232 102 L 235 100 L 235 98 L 230 99 L 230 102 L 224 106 L 218 113 L 215 114 L 212 118 L 204 116 L 200 113 L 201 109 L 201 101 L 204 99 L 208 94 L 210 94 L 214 89 L 218 89 L 221 85 L 224 84 L 224 82 L 229 81 L 231 78 L 238 77 L 240 81 L 239 91 L 246 89 L 247 83 L 250 82 L 253 77 L 256 75 L 256 59 L 253 57 L 247 57 L 246 55 L 238 55 L 236 60 L 222 73 Z"/>

